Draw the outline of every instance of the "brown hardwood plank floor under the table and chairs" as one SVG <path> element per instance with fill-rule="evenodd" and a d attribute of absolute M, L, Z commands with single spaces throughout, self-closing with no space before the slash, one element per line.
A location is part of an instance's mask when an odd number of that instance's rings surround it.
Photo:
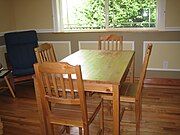
<path fill-rule="evenodd" d="M 33 83 L 16 86 L 16 99 L 8 91 L 0 93 L 0 117 L 4 135 L 39 135 L 40 126 Z M 105 103 L 105 107 L 106 107 Z M 179 135 L 180 134 L 180 88 L 145 87 L 143 89 L 141 134 Z M 134 113 L 128 111 L 123 121 L 132 121 Z M 96 120 L 98 122 L 98 120 Z M 91 126 L 92 134 L 98 128 Z M 59 127 L 55 127 L 58 134 Z M 71 128 L 71 134 L 78 134 L 78 128 Z M 123 135 L 135 135 L 135 125 L 122 122 Z M 105 108 L 105 134 L 112 134 L 112 115 Z"/>

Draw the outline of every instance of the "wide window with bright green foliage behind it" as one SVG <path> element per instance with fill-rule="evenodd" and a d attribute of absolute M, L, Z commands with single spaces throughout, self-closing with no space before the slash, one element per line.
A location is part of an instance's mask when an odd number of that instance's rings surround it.
<path fill-rule="evenodd" d="M 157 28 L 164 18 L 159 1 L 56 0 L 55 24 L 60 31 Z"/>

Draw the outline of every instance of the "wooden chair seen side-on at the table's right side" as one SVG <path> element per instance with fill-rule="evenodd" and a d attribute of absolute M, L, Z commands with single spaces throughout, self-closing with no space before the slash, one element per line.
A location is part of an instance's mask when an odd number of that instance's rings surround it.
<path fill-rule="evenodd" d="M 140 74 L 140 79 L 135 83 L 125 82 L 121 86 L 121 96 L 120 102 L 133 103 L 135 105 L 135 123 L 136 123 L 136 133 L 140 131 L 140 121 L 142 118 L 142 89 L 144 84 L 144 79 L 146 76 L 146 69 L 148 66 L 149 58 L 151 55 L 152 44 L 148 44 L 146 55 L 144 57 L 144 62 L 142 65 L 142 70 Z M 110 99 L 110 97 L 103 97 L 104 99 Z M 112 97 L 111 97 L 112 100 Z M 129 106 L 128 106 L 129 107 Z M 123 111 L 129 110 L 130 108 L 125 107 Z"/>

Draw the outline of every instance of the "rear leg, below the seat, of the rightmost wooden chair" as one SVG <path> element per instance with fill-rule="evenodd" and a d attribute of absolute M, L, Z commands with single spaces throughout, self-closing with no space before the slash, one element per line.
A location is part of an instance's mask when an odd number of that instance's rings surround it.
<path fill-rule="evenodd" d="M 140 103 L 135 102 L 136 135 L 140 134 Z"/>

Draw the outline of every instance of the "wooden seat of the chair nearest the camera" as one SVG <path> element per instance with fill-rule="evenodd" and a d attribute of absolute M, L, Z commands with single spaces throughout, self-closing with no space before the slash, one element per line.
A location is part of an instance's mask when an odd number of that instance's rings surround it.
<path fill-rule="evenodd" d="M 88 111 L 88 121 L 92 117 L 95 110 L 100 106 L 101 98 L 91 98 L 87 97 L 87 111 Z M 50 121 L 53 124 L 62 124 L 67 126 L 78 126 L 83 127 L 82 121 L 82 111 L 79 105 L 64 105 L 55 104 L 52 105 L 52 113 L 50 113 Z"/>

